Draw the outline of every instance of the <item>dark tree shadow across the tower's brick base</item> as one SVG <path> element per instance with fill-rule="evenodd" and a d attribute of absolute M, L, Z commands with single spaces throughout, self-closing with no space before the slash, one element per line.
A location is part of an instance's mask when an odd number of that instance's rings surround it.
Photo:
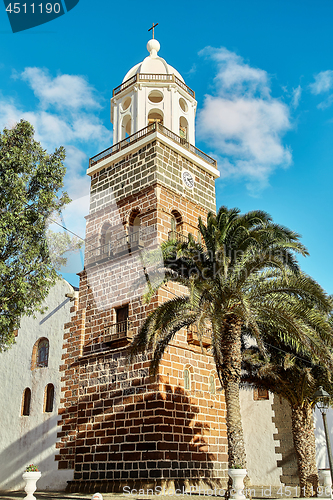
<path fill-rule="evenodd" d="M 80 398 L 79 430 L 75 442 L 67 445 L 75 448 L 69 491 L 122 491 L 124 484 L 138 481 L 173 482 L 177 488 L 185 481 L 221 484 L 221 471 L 216 470 L 219 443 L 209 446 L 208 436 L 214 432 L 196 421 L 199 408 L 184 390 L 169 385 L 158 390 L 156 385 L 157 390 L 147 392 L 147 377 L 133 382 L 137 386 L 127 389 L 102 386 L 98 399 L 96 393 Z M 68 411 L 75 413 L 74 407 Z"/>

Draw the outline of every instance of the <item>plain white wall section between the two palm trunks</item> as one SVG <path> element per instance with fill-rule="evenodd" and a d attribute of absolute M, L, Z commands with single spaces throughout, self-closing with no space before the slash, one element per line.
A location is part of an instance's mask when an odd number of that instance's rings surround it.
<path fill-rule="evenodd" d="M 277 429 L 272 421 L 273 395 L 268 400 L 253 400 L 253 390 L 240 391 L 241 415 L 247 458 L 247 469 L 252 485 L 280 486 L 281 460 L 275 448 L 279 442 L 274 440 Z"/>

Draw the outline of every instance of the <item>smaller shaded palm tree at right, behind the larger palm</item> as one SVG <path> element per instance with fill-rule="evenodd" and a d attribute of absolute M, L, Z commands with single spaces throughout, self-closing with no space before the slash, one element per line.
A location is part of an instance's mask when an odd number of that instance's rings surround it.
<path fill-rule="evenodd" d="M 330 370 L 318 357 L 304 352 L 298 356 L 295 348 L 274 336 L 267 337 L 265 345 L 266 357 L 256 347 L 243 351 L 242 381 L 252 387 L 268 389 L 289 402 L 301 496 L 317 496 L 314 393 L 320 385 L 332 393 Z"/>

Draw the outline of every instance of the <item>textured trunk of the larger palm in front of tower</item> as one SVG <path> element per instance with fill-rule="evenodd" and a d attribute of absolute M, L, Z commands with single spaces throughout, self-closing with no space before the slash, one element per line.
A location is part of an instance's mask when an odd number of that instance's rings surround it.
<path fill-rule="evenodd" d="M 229 468 L 237 465 L 246 469 L 243 426 L 239 404 L 242 322 L 238 318 L 230 316 L 223 326 L 224 335 L 223 345 L 221 346 L 223 364 L 221 366 L 221 376 L 227 411 Z"/>

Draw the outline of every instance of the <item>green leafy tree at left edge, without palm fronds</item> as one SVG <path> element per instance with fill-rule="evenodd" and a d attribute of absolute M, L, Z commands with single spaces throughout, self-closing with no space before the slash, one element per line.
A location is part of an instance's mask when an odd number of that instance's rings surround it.
<path fill-rule="evenodd" d="M 46 231 L 48 218 L 70 201 L 61 191 L 64 159 L 64 148 L 48 154 L 34 140 L 27 121 L 0 133 L 0 350 L 58 277 Z"/>

